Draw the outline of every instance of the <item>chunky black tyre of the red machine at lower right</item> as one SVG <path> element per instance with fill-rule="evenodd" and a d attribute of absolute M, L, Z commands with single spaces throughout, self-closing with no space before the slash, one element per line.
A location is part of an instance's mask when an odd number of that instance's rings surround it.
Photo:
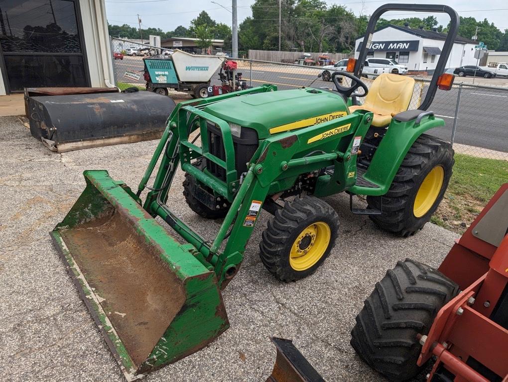
<path fill-rule="evenodd" d="M 413 378 L 421 371 L 417 334 L 428 334 L 439 309 L 458 293 L 458 285 L 441 272 L 410 259 L 399 261 L 365 300 L 351 345 L 389 380 Z"/>

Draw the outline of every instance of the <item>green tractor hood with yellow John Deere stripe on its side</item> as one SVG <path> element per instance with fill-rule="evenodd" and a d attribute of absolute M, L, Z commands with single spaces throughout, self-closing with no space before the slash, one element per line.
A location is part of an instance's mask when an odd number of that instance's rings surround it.
<path fill-rule="evenodd" d="M 348 114 L 339 94 L 314 88 L 234 97 L 212 103 L 204 110 L 225 121 L 255 129 L 260 139 Z"/>

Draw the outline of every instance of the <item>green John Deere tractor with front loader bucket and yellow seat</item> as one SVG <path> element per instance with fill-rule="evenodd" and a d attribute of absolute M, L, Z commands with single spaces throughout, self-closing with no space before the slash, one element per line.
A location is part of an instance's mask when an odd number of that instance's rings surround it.
<path fill-rule="evenodd" d="M 407 110 L 412 78 L 383 74 L 367 88 L 359 78 L 364 49 L 354 74 L 332 75 L 336 90 L 263 85 L 180 103 L 135 191 L 105 170 L 84 172 L 86 189 L 51 234 L 128 379 L 196 352 L 229 327 L 220 290 L 238 271 L 262 210 L 273 217 L 261 259 L 285 282 L 314 272 L 335 245 L 338 217 L 321 197 L 365 195 L 367 208 L 352 212 L 399 235 L 425 225 L 454 163 L 451 146 L 426 134 L 444 126 L 426 110 L 445 86 L 439 75 L 455 35 L 456 28 L 419 110 Z M 167 204 L 178 167 L 190 208 L 223 219 L 211 243 Z"/>

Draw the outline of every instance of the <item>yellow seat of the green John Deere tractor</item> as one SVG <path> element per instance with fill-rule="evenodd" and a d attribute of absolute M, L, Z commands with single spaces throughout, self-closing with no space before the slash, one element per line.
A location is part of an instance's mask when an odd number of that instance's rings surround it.
<path fill-rule="evenodd" d="M 372 126 L 386 127 L 394 115 L 408 109 L 414 87 L 415 79 L 411 77 L 383 73 L 372 83 L 365 103 L 350 106 L 349 110 L 351 113 L 359 109 L 368 110 L 374 113 Z"/>

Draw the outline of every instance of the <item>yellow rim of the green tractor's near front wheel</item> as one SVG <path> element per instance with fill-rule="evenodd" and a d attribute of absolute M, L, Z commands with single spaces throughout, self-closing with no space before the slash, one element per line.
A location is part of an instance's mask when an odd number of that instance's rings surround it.
<path fill-rule="evenodd" d="M 289 263 L 294 270 L 309 269 L 325 254 L 330 244 L 331 231 L 325 222 L 315 222 L 305 228 L 296 238 Z"/>

